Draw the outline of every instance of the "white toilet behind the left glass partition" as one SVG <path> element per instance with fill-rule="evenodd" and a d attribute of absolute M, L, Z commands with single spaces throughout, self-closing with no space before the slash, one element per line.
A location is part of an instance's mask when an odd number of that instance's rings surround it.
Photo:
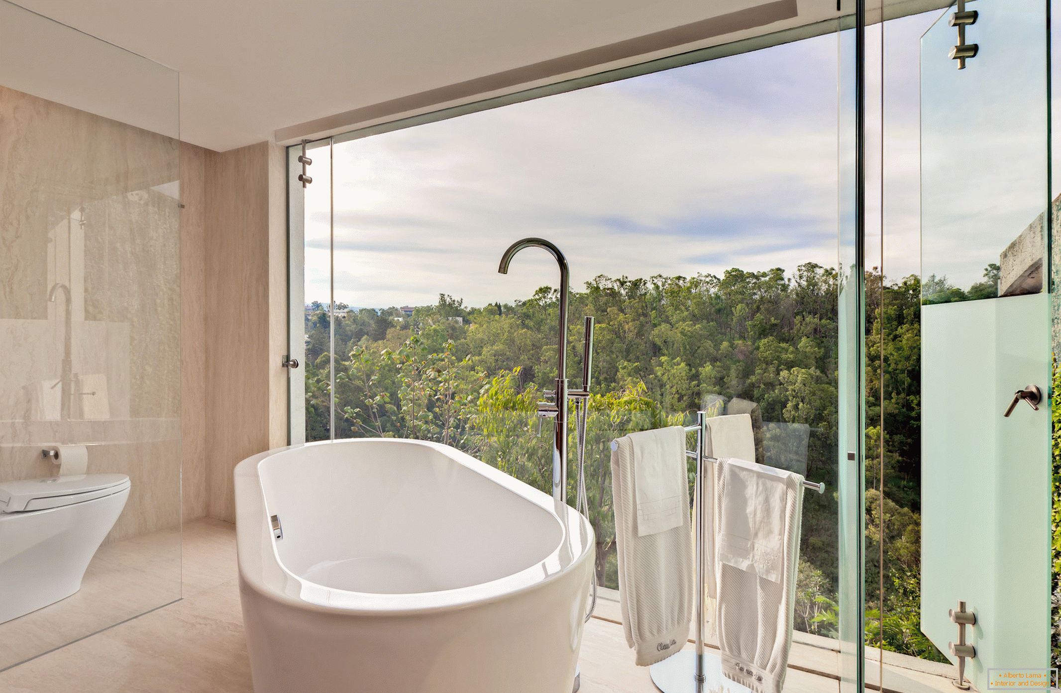
<path fill-rule="evenodd" d="M 125 474 L 0 484 L 0 623 L 81 589 L 89 561 L 128 495 Z"/>

